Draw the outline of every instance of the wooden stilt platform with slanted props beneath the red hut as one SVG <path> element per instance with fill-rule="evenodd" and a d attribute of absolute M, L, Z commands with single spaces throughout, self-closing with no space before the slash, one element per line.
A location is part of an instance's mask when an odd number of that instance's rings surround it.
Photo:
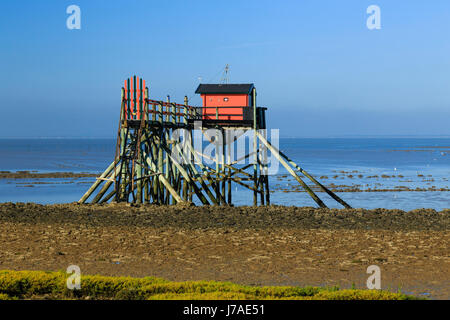
<path fill-rule="evenodd" d="M 270 144 L 265 134 L 266 108 L 257 107 L 255 88 L 251 98 L 251 106 L 246 107 L 251 111 L 245 111 L 243 120 L 221 120 L 220 117 L 228 115 L 226 110 L 224 114 L 219 109 L 227 107 L 215 107 L 215 117 L 205 119 L 202 107 L 190 106 L 187 97 L 183 104 L 174 103 L 169 97 L 165 102 L 151 100 L 145 80 L 137 76 L 125 80 L 115 159 L 78 202 L 177 204 L 197 201 L 203 205 L 232 205 L 234 183 L 253 193 L 253 205 L 270 205 L 266 162 L 270 152 L 320 207 L 326 207 L 325 203 L 301 176 L 350 208 Z M 214 154 L 203 152 L 202 145 L 193 139 L 195 130 L 203 135 L 208 129 L 216 130 Z M 232 159 L 236 138 L 230 134 L 235 129 L 242 133 L 252 131 L 251 150 L 237 160 Z M 251 163 L 240 164 L 247 159 L 251 159 Z"/>

